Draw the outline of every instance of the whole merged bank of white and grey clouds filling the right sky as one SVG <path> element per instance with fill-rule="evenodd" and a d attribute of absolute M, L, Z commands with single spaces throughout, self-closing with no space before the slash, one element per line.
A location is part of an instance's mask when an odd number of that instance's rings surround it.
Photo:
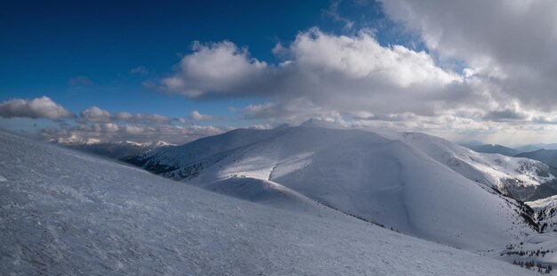
<path fill-rule="evenodd" d="M 501 1 L 383 3 L 427 51 L 381 45 L 367 29 L 335 35 L 310 28 L 274 47 L 278 64 L 228 41 L 196 43 L 158 88 L 194 99 L 262 98 L 238 111 L 245 119 L 349 118 L 362 126 L 464 133 L 552 125 L 557 24 L 549 23 L 557 9 Z M 335 3 L 331 16 L 338 15 Z M 537 16 L 548 23 L 542 32 Z"/>

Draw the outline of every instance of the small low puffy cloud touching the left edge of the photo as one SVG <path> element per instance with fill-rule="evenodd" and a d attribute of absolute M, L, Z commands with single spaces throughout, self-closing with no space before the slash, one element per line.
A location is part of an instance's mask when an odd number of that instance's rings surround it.
<path fill-rule="evenodd" d="M 33 100 L 13 99 L 0 103 L 3 118 L 73 118 L 74 115 L 60 104 L 43 96 Z"/>

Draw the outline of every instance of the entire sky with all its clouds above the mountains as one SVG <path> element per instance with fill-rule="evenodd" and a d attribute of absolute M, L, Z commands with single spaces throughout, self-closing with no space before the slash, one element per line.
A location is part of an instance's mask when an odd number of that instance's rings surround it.
<path fill-rule="evenodd" d="M 4 1 L 0 127 L 187 142 L 321 118 L 555 142 L 557 7 L 376 1 Z"/>

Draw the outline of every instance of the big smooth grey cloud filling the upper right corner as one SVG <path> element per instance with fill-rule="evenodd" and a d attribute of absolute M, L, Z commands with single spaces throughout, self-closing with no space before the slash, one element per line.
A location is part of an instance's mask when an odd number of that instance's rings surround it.
<path fill-rule="evenodd" d="M 383 1 L 393 20 L 442 56 L 464 61 L 497 101 L 516 99 L 534 110 L 557 103 L 557 2 Z"/>

